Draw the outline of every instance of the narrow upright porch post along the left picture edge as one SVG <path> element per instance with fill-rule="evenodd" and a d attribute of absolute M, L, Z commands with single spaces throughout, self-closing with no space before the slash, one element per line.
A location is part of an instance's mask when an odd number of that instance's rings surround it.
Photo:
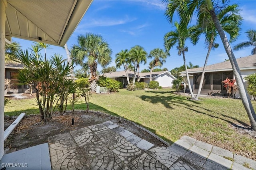
<path fill-rule="evenodd" d="M 4 56 L 6 0 L 0 0 L 0 159 L 4 155 Z"/>

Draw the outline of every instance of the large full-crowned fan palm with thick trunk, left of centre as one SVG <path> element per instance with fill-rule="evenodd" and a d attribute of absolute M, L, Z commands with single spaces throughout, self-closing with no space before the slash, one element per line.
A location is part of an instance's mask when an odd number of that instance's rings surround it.
<path fill-rule="evenodd" d="M 111 63 L 112 50 L 101 35 L 86 33 L 77 38 L 78 44 L 72 46 L 71 57 L 76 64 L 88 66 L 92 91 L 96 91 L 97 66 Z M 87 58 L 87 61 L 84 60 Z"/>

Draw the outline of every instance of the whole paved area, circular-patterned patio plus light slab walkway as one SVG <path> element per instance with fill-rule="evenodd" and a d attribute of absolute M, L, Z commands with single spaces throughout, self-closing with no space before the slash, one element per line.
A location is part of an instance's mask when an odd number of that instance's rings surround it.
<path fill-rule="evenodd" d="M 256 161 L 189 136 L 159 147 L 111 121 L 52 136 L 49 149 L 52 170 L 256 170 Z"/>

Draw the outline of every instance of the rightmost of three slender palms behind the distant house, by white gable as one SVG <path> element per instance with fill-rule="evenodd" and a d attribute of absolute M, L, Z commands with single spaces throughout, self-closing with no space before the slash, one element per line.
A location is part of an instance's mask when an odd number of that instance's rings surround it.
<path fill-rule="evenodd" d="M 154 67 L 162 67 L 162 65 L 166 62 L 167 54 L 164 52 L 163 49 L 155 48 L 154 50 L 150 51 L 150 54 L 148 58 L 154 57 L 154 60 L 152 60 L 149 63 L 150 66 L 150 81 L 152 81 L 152 70 L 154 70 Z"/>

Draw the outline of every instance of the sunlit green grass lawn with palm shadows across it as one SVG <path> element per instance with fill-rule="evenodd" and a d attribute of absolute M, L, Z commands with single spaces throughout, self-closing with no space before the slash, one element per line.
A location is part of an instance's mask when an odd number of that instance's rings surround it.
<path fill-rule="evenodd" d="M 90 110 L 124 116 L 170 143 L 188 135 L 256 160 L 256 138 L 236 130 L 236 126 L 250 125 L 241 100 L 200 98 L 200 101 L 193 101 L 170 89 L 119 91 L 93 94 Z M 5 107 L 5 114 L 38 114 L 32 104 L 35 104 L 34 99 L 11 100 Z M 256 110 L 256 102 L 252 104 Z M 85 110 L 86 105 L 79 102 L 75 108 Z"/>

